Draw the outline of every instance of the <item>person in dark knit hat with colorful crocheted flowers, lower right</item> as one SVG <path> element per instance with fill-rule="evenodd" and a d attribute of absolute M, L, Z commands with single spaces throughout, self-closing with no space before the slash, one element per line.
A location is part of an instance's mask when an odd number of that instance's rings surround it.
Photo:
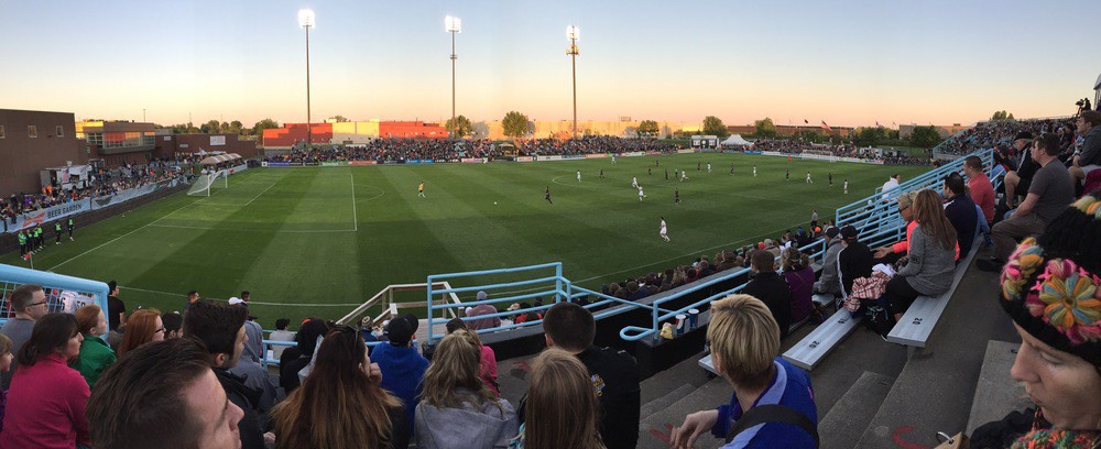
<path fill-rule="evenodd" d="M 1001 304 L 1022 340 L 1010 373 L 1037 406 L 1011 447 L 1101 447 L 1101 191 L 1021 242 Z"/>

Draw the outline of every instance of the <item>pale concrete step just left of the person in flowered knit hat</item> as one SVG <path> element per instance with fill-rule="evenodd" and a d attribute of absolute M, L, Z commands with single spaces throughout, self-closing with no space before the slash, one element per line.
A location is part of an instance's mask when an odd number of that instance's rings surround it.
<path fill-rule="evenodd" d="M 1013 410 L 1035 407 L 1025 394 L 1025 387 L 1010 377 L 1010 369 L 1017 357 L 1018 343 L 990 340 L 982 359 L 979 384 L 971 401 L 971 416 L 967 420 L 967 435 L 983 424 L 999 420 Z"/>

